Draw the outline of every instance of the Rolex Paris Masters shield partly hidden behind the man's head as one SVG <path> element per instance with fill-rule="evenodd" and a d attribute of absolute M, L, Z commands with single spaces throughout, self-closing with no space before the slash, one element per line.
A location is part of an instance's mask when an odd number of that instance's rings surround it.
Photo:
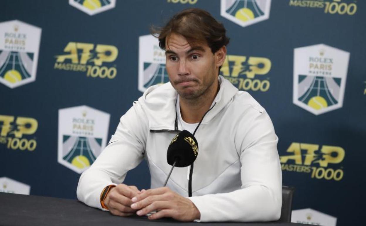
<path fill-rule="evenodd" d="M 145 92 L 149 86 L 169 82 L 165 68 L 165 52 L 152 35 L 139 37 L 138 89 Z"/>

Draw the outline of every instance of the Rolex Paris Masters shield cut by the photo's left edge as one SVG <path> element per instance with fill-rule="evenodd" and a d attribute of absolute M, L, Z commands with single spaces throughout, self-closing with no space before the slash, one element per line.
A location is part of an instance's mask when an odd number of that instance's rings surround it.
<path fill-rule="evenodd" d="M 0 82 L 16 88 L 36 81 L 41 29 L 18 20 L 0 23 Z"/>

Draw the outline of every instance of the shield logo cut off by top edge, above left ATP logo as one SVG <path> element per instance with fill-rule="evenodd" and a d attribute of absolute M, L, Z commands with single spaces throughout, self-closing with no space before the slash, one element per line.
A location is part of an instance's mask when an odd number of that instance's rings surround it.
<path fill-rule="evenodd" d="M 92 16 L 114 8 L 116 0 L 69 0 L 69 4 Z"/>

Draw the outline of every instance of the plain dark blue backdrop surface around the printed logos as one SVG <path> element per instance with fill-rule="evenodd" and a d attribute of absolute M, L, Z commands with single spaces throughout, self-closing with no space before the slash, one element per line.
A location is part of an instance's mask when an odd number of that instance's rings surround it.
<path fill-rule="evenodd" d="M 312 178 L 313 170 L 320 167 L 316 161 L 297 164 L 310 167 L 310 173 L 283 170 L 283 184 L 296 187 L 294 209 L 313 208 L 335 216 L 337 225 L 361 225 L 365 201 L 366 3 L 324 1 L 355 4 L 357 9 L 353 15 L 332 14 L 324 8 L 295 6 L 295 1 L 273 0 L 269 19 L 242 27 L 220 15 L 220 0 L 192 1 L 195 4 L 183 4 L 184 0 L 117 1 L 115 8 L 93 16 L 67 1 L 2 1 L 0 22 L 16 19 L 40 27 L 42 34 L 36 81 L 13 89 L 0 84 L 0 115 L 36 119 L 37 131 L 24 137 L 35 139 L 37 147 L 22 151 L 0 144 L 0 177 L 30 185 L 30 194 L 75 199 L 80 174 L 57 162 L 59 109 L 87 105 L 110 114 L 109 140 L 120 116 L 142 95 L 138 90 L 139 36 L 149 34 L 151 24 L 163 25 L 175 12 L 198 7 L 224 24 L 231 38 L 228 55 L 270 60 L 269 72 L 255 76 L 260 81 L 268 80 L 269 89 L 247 91 L 269 112 L 279 137 L 280 156 L 293 155 L 287 152 L 293 142 L 319 145 L 315 153 L 321 156 L 317 158 L 323 158 L 323 145 L 344 149 L 344 159 L 322 167 L 324 171 L 340 169 L 343 177 L 339 180 L 321 177 L 322 171 L 318 171 L 319 178 Z M 4 32 L 0 30 L 1 43 Z M 115 46 L 117 58 L 102 64 L 117 69 L 115 78 L 92 78 L 86 72 L 55 69 L 56 56 L 67 54 L 64 48 L 69 42 Z M 292 100 L 294 49 L 317 44 L 350 53 L 343 107 L 320 115 Z M 300 158 L 306 158 L 305 149 Z M 294 160 L 283 164 L 296 165 Z M 328 170 L 329 175 L 332 170 Z M 129 172 L 124 183 L 149 188 L 146 163 Z"/>

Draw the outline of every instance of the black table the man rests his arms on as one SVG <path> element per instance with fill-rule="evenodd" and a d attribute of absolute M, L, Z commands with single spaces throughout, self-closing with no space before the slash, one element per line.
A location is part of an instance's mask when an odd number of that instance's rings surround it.
<path fill-rule="evenodd" d="M 297 223 L 280 222 L 215 222 L 203 223 L 206 225 L 275 225 L 275 226 L 300 226 Z M 53 197 L 9 194 L 0 192 L 0 225 L 1 226 L 101 226 L 101 225 L 199 225 L 196 222 L 182 223 L 173 219 L 149 220 L 144 216 L 120 217 L 111 215 L 107 211 L 96 208 L 72 199 L 58 199 Z"/>

